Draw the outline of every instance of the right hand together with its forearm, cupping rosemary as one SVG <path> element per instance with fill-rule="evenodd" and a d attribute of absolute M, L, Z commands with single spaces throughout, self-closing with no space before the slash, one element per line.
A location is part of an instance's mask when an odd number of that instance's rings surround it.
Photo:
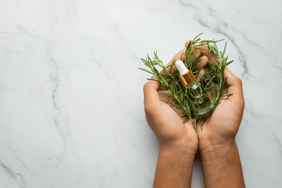
<path fill-rule="evenodd" d="M 188 45 L 189 41 L 185 45 Z M 201 46 L 208 50 L 207 46 Z M 201 50 L 203 60 L 201 67 L 206 66 L 206 61 L 220 64 L 212 53 Z M 198 66 L 199 67 L 199 66 Z M 204 70 L 200 74 L 205 74 Z M 221 103 L 203 123 L 203 130 L 199 130 L 198 149 L 201 154 L 201 163 L 204 175 L 205 187 L 232 187 L 244 188 L 242 165 L 235 143 L 245 106 L 242 81 L 225 68 L 224 79 L 226 91 L 222 94 L 233 95 L 221 99 Z M 224 93 L 225 92 L 225 93 Z"/>

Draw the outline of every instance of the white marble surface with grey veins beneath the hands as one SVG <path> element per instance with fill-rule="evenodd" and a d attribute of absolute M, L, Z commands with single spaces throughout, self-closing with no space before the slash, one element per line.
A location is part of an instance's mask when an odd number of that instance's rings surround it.
<path fill-rule="evenodd" d="M 152 187 L 159 144 L 137 67 L 201 32 L 226 39 L 243 81 L 246 186 L 282 186 L 281 1 L 0 2 L 1 188 Z"/>

